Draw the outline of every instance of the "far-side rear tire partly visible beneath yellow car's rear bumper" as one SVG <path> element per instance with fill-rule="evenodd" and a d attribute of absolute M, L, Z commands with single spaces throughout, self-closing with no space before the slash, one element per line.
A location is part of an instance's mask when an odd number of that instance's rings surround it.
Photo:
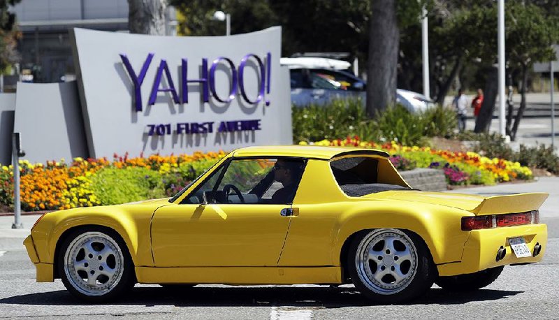
<path fill-rule="evenodd" d="M 437 277 L 435 284 L 448 291 L 474 291 L 492 284 L 501 274 L 504 266 L 489 268 L 467 275 Z"/>

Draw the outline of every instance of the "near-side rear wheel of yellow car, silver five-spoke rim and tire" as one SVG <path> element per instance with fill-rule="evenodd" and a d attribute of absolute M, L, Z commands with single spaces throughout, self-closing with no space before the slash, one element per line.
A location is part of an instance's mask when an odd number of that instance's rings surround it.
<path fill-rule="evenodd" d="M 437 270 L 425 242 L 399 229 L 363 231 L 349 248 L 351 281 L 376 303 L 412 300 L 432 285 Z"/>

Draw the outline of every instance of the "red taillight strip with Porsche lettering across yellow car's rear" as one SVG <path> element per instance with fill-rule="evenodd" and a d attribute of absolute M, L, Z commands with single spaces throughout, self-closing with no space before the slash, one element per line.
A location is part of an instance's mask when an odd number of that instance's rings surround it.
<path fill-rule="evenodd" d="M 519 226 L 521 224 L 539 224 L 539 211 L 489 214 L 476 217 L 462 217 L 462 230 L 497 228 L 500 226 Z"/>

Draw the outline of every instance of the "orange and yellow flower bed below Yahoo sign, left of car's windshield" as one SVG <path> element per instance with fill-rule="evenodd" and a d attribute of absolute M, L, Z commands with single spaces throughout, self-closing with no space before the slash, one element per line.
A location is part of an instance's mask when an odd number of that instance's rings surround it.
<path fill-rule="evenodd" d="M 20 161 L 22 210 L 61 210 L 171 196 L 224 157 L 196 152 L 162 157 Z M 116 172 L 116 174 L 115 174 Z M 0 205 L 13 207 L 13 167 L 0 169 Z"/>

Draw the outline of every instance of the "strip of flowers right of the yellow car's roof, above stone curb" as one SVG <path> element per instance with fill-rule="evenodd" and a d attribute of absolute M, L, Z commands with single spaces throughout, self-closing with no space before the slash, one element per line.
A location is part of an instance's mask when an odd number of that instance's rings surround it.
<path fill-rule="evenodd" d="M 301 145 L 307 143 L 302 142 Z M 449 152 L 430 147 L 403 146 L 394 141 L 378 144 L 372 141 L 362 141 L 358 137 L 321 140 L 313 145 L 351 146 L 375 148 L 384 150 L 392 155 L 393 163 L 402 163 L 401 158 L 414 163 L 409 168 L 442 168 L 449 184 L 495 184 L 512 180 L 530 180 L 532 171 L 521 166 L 518 162 L 505 159 L 482 157 L 475 152 Z M 406 168 L 398 167 L 398 170 Z M 408 169 L 409 169 L 408 168 Z"/>

